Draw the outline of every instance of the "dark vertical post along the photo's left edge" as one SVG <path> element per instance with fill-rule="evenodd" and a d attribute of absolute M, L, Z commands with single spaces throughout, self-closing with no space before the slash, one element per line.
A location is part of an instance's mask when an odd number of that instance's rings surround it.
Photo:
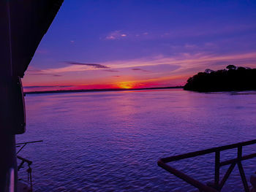
<path fill-rule="evenodd" d="M 12 134 L 10 1 L 0 1 L 0 191 L 16 191 L 17 161 L 15 135 Z"/>

